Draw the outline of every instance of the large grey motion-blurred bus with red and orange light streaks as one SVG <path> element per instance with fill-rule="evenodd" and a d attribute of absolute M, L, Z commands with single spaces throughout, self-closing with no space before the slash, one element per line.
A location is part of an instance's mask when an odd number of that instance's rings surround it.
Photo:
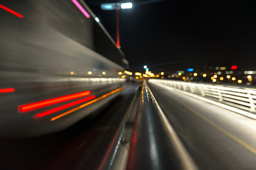
<path fill-rule="evenodd" d="M 84 1 L 0 7 L 0 137 L 63 130 L 120 93 L 128 62 Z"/>

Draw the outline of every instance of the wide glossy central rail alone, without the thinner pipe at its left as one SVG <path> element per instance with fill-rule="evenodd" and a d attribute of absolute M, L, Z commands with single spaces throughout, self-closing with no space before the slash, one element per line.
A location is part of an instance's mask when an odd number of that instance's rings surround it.
<path fill-rule="evenodd" d="M 146 81 L 134 121 L 127 169 L 197 169 Z"/>

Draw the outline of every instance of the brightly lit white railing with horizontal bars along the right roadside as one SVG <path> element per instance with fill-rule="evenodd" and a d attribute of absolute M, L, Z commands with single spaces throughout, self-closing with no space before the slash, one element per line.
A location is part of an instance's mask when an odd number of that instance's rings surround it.
<path fill-rule="evenodd" d="M 191 94 L 210 98 L 235 108 L 256 113 L 256 90 L 252 88 L 240 88 L 238 86 L 223 86 L 217 84 L 198 84 L 164 79 L 149 79 L 149 82 L 171 86 L 175 89 L 187 91 Z"/>

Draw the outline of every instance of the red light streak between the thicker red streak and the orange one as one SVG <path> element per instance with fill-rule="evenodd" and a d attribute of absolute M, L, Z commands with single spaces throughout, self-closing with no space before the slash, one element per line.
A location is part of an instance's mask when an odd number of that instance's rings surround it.
<path fill-rule="evenodd" d="M 60 107 L 58 107 L 58 108 L 53 108 L 53 109 L 51 109 L 51 110 L 49 110 L 49 111 L 45 111 L 45 112 L 42 112 L 42 113 L 38 113 L 38 114 L 36 115 L 36 118 L 42 118 L 43 116 L 50 115 L 51 113 L 55 113 L 55 112 L 61 111 L 61 110 L 65 109 L 65 108 L 70 108 L 71 106 L 75 106 L 75 105 L 80 104 L 80 103 L 83 103 L 83 102 L 85 102 L 85 101 L 89 101 L 89 100 L 91 100 L 92 98 L 95 98 L 95 96 L 89 96 L 89 97 L 86 97 L 86 98 L 82 98 L 82 99 L 80 99 L 79 101 L 74 101 L 74 102 L 72 102 L 72 103 L 65 104 L 65 105 L 60 106 Z"/>

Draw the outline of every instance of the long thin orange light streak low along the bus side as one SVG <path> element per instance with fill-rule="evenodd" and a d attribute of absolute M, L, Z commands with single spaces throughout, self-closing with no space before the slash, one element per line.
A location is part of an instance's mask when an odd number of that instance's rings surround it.
<path fill-rule="evenodd" d="M 117 91 L 120 91 L 120 90 L 122 90 L 122 89 L 123 89 L 123 87 L 120 87 L 120 88 L 118 88 L 118 89 L 115 89 L 114 91 L 110 91 L 109 93 L 107 93 L 107 94 L 105 94 L 105 95 L 103 95 L 103 96 L 100 96 L 100 97 L 98 97 L 98 98 L 95 98 L 95 99 L 92 100 L 92 101 L 89 101 L 89 102 L 87 102 L 87 103 L 85 103 L 85 104 L 82 104 L 82 105 L 78 106 L 77 108 L 73 108 L 73 109 L 71 109 L 70 111 L 66 111 L 65 113 L 62 113 L 62 114 L 60 114 L 60 115 L 57 115 L 57 116 L 55 116 L 54 118 L 51 118 L 50 121 L 54 121 L 54 120 L 56 120 L 56 119 L 58 119 L 58 118 L 62 118 L 62 117 L 65 116 L 65 115 L 68 115 L 68 114 L 70 114 L 70 113 L 73 113 L 74 111 L 78 111 L 80 108 L 84 108 L 85 106 L 88 106 L 88 105 L 90 105 L 90 104 L 92 104 L 92 103 L 95 103 L 96 101 L 100 101 L 102 98 L 105 98 L 105 97 L 107 97 L 107 96 L 110 96 L 111 94 L 114 94 L 114 93 L 116 93 Z"/>

